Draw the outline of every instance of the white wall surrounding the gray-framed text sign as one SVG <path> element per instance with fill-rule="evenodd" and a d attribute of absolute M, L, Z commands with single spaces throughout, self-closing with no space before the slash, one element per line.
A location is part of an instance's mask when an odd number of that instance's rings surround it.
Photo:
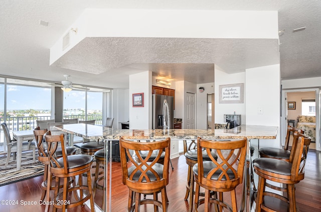
<path fill-rule="evenodd" d="M 215 66 L 215 123 L 223 124 L 224 114 L 241 114 L 241 124 L 245 124 L 245 104 L 246 104 L 246 95 L 244 92 L 244 103 L 234 103 L 234 104 L 220 104 L 219 103 L 219 86 L 220 85 L 229 85 L 229 84 L 239 84 L 245 83 L 245 72 L 236 73 L 236 74 L 227 74 L 220 67 Z M 244 91 L 246 85 L 244 84 Z"/>

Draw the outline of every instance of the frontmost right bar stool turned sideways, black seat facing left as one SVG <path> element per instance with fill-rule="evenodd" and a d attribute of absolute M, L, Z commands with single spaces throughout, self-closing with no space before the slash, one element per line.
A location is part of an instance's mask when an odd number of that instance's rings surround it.
<path fill-rule="evenodd" d="M 286 211 L 296 212 L 295 187 L 294 185 L 304 178 L 304 166 L 311 138 L 301 133 L 294 132 L 293 137 L 297 136 L 296 145 L 291 152 L 289 161 L 275 158 L 260 157 L 253 160 L 254 171 L 259 175 L 258 191 L 256 195 L 255 211 Z M 294 139 L 294 138 L 293 138 Z M 284 186 L 271 185 L 266 182 L 282 183 Z M 285 196 L 273 191 L 265 190 L 266 187 L 276 191 L 286 192 Z M 279 200 L 279 201 L 277 201 Z"/>

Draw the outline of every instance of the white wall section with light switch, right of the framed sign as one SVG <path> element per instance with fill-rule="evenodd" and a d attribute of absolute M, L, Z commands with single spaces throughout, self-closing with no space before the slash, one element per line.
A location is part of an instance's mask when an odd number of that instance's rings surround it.
<path fill-rule="evenodd" d="M 271 65 L 246 71 L 246 124 L 277 126 L 276 139 L 260 140 L 260 147 L 281 147 L 280 142 L 280 66 Z M 258 108 L 262 114 L 258 114 Z"/>

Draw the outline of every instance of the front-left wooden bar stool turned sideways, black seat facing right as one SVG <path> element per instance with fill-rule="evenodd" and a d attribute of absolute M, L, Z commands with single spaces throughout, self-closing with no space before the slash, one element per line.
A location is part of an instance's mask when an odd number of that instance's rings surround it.
<path fill-rule="evenodd" d="M 90 176 L 90 169 L 93 162 L 92 156 L 84 154 L 67 155 L 64 134 L 51 135 L 51 132 L 47 131 L 44 136 L 48 144 L 49 169 L 56 177 L 56 185 L 60 184 L 60 178 L 64 179 L 63 192 L 60 192 L 60 186 L 56 186 L 55 188 L 53 211 L 56 211 L 57 208 L 66 211 L 69 208 L 83 205 L 87 200 L 90 200 L 91 211 L 94 211 L 91 177 L 87 177 L 87 185 L 83 184 L 82 180 L 83 173 L 87 173 L 87 176 Z M 59 144 L 62 148 L 62 157 L 57 158 L 55 153 Z M 75 178 L 75 176 L 78 176 L 78 184 L 69 187 L 68 179 L 70 177 Z M 50 185 L 50 182 L 51 178 L 49 177 L 47 185 Z M 74 194 L 74 198 L 72 198 L 72 193 Z M 49 196 L 47 196 L 47 199 L 49 199 Z"/>

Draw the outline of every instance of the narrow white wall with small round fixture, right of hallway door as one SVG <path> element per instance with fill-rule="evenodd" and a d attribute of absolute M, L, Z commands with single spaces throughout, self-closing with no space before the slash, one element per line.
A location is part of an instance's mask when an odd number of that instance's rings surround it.
<path fill-rule="evenodd" d="M 204 87 L 203 93 L 199 92 L 199 87 Z M 196 89 L 196 128 L 207 129 L 207 94 L 214 93 L 214 82 L 198 84 Z"/>

